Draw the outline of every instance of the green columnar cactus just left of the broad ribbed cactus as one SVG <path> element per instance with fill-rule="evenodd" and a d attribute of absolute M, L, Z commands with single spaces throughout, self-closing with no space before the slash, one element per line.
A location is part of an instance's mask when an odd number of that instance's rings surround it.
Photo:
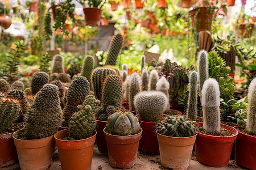
<path fill-rule="evenodd" d="M 94 58 L 92 56 L 84 57 L 84 62 L 82 63 L 81 76 L 85 76 L 90 83 L 90 88 L 92 89 L 92 71 L 94 69 Z"/>

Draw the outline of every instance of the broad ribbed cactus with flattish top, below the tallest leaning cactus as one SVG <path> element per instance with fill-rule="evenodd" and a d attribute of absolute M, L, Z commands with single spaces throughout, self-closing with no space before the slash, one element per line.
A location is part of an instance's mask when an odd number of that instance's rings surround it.
<path fill-rule="evenodd" d="M 92 73 L 93 92 L 98 100 L 101 100 L 104 81 L 109 74 L 115 74 L 115 71 L 113 69 L 97 68 Z"/>

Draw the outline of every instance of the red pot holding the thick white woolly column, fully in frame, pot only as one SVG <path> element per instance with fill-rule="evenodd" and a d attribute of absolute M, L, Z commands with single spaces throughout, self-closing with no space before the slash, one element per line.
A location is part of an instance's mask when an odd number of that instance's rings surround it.
<path fill-rule="evenodd" d="M 203 122 L 195 125 L 203 126 Z M 225 167 L 229 164 L 232 146 L 237 138 L 238 131 L 224 124 L 221 124 L 221 127 L 231 131 L 234 135 L 217 137 L 197 133 L 195 148 L 198 162 L 210 167 Z"/>

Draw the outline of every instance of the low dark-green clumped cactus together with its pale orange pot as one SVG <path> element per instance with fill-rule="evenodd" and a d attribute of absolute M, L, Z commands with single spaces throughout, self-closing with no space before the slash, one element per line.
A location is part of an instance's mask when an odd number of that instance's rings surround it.
<path fill-rule="evenodd" d="M 168 116 L 156 126 L 156 133 L 162 165 L 187 169 L 196 141 L 195 126 L 183 116 Z"/>

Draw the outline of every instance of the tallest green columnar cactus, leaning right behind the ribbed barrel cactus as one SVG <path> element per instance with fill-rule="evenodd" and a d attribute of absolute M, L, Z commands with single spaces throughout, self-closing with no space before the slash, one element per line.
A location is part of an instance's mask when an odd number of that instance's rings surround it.
<path fill-rule="evenodd" d="M 106 58 L 105 65 L 115 65 L 117 62 L 117 56 L 123 45 L 123 36 L 121 33 L 117 33 L 112 37 L 109 44 L 108 57 Z"/>

